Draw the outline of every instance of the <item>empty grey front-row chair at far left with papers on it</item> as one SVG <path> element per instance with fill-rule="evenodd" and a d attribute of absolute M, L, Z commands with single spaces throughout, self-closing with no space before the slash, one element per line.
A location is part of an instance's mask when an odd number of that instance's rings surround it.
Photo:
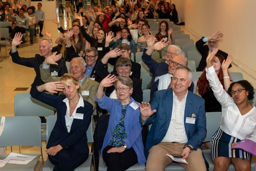
<path fill-rule="evenodd" d="M 40 167 L 38 159 L 42 157 L 42 144 L 41 144 L 41 126 L 40 118 L 36 116 L 14 116 L 14 117 L 0 117 L 3 126 L 3 133 L 0 136 L 0 146 L 13 146 L 13 145 L 28 145 L 39 146 L 41 154 L 24 154 L 29 156 L 36 156 L 28 164 L 11 164 L 7 163 L 0 170 L 35 170 Z M 1 123 L 1 122 L 0 122 Z M 0 126 L 1 127 L 1 126 Z M 5 159 L 8 155 L 1 155 L 0 159 Z M 42 157 L 42 161 L 44 159 Z M 39 169 L 38 169 L 39 170 Z"/>

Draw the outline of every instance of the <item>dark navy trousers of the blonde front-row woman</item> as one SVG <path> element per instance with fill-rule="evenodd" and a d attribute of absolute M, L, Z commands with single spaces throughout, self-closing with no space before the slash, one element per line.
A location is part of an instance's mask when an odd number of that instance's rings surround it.
<path fill-rule="evenodd" d="M 53 171 L 73 171 L 88 159 L 89 154 L 79 154 L 74 149 L 61 149 L 55 156 L 48 155 Z"/>

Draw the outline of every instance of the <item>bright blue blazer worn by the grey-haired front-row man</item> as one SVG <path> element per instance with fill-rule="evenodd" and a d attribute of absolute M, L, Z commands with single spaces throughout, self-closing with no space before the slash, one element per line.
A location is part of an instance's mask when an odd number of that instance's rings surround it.
<path fill-rule="evenodd" d="M 148 118 L 145 124 L 152 124 L 150 133 L 148 133 L 145 156 L 148 156 L 148 151 L 154 145 L 162 141 L 167 133 L 170 119 L 172 118 L 173 109 L 173 89 L 160 90 L 155 93 L 151 102 L 151 109 L 157 112 Z M 186 123 L 186 117 L 196 115 L 195 124 Z M 204 100 L 196 94 L 188 91 L 186 98 L 186 106 L 184 113 L 184 126 L 187 135 L 187 143 L 195 149 L 201 146 L 202 141 L 206 137 L 206 117 L 204 110 Z"/>

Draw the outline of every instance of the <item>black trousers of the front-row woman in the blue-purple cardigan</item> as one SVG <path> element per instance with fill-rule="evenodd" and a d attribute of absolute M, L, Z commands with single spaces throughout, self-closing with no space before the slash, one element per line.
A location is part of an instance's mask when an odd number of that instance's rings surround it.
<path fill-rule="evenodd" d="M 103 149 L 102 157 L 106 166 L 107 171 L 121 171 L 126 170 L 134 164 L 138 163 L 137 155 L 132 148 L 126 149 L 123 153 L 107 153 L 113 146 L 106 146 Z"/>

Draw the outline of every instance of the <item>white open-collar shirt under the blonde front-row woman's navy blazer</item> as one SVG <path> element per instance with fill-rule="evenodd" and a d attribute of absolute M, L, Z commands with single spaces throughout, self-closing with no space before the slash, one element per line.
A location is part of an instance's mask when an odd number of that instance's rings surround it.
<path fill-rule="evenodd" d="M 71 126 L 72 126 L 72 123 L 73 123 L 73 120 L 74 120 L 74 116 L 73 115 L 76 113 L 77 108 L 84 106 L 82 96 L 80 94 L 79 94 L 79 96 L 80 96 L 80 98 L 79 98 L 79 101 L 78 101 L 78 103 L 76 105 L 76 109 L 72 113 L 71 117 L 70 117 L 70 113 L 69 113 L 69 100 L 68 100 L 68 98 L 62 100 L 63 102 L 66 103 L 66 106 L 67 106 L 67 112 L 66 112 L 66 115 L 65 115 L 65 121 L 66 121 L 66 127 L 67 127 L 67 130 L 68 130 L 68 133 L 70 133 L 70 129 L 71 129 Z"/>

